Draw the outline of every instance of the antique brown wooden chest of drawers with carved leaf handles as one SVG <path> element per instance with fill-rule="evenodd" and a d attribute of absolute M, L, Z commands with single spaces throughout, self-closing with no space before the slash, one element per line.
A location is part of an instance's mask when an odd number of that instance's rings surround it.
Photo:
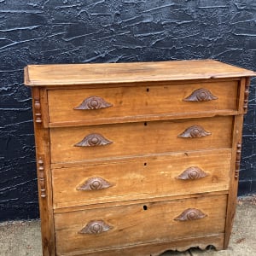
<path fill-rule="evenodd" d="M 253 75 L 212 60 L 26 67 L 44 255 L 226 248 Z"/>

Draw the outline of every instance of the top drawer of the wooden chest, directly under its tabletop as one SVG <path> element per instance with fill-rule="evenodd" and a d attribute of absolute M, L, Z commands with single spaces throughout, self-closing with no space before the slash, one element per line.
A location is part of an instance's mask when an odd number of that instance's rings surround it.
<path fill-rule="evenodd" d="M 49 126 L 234 114 L 238 80 L 49 90 Z"/>

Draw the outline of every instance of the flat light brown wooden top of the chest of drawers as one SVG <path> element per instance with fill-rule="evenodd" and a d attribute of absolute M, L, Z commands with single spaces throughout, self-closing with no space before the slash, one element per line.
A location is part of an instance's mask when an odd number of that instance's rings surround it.
<path fill-rule="evenodd" d="M 236 78 L 255 75 L 252 71 L 213 60 L 29 65 L 26 67 L 25 74 L 25 84 L 30 86 L 119 84 Z"/>

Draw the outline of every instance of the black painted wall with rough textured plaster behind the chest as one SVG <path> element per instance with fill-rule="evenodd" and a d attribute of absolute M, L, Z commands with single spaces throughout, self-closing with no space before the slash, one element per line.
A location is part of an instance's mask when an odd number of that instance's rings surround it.
<path fill-rule="evenodd" d="M 31 93 L 35 63 L 212 58 L 256 70 L 255 0 L 0 0 L 0 221 L 38 218 Z M 240 195 L 256 192 L 256 82 Z"/>

